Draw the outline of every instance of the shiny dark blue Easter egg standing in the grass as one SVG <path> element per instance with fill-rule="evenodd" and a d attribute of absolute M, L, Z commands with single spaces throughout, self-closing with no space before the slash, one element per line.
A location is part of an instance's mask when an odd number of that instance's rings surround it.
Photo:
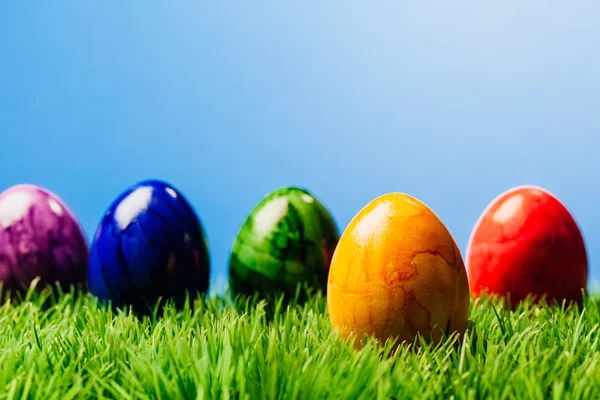
<path fill-rule="evenodd" d="M 89 289 L 100 301 L 147 313 L 159 299 L 180 307 L 208 290 L 208 244 L 201 221 L 172 185 L 135 184 L 110 205 L 96 230 Z"/>

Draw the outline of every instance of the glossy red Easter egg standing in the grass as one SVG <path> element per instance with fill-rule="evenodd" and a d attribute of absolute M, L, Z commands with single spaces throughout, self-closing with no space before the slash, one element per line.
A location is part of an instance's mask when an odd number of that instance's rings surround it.
<path fill-rule="evenodd" d="M 496 197 L 477 221 L 466 253 L 474 297 L 488 293 L 517 306 L 534 302 L 580 303 L 588 279 L 583 236 L 554 195 L 534 186 Z"/>

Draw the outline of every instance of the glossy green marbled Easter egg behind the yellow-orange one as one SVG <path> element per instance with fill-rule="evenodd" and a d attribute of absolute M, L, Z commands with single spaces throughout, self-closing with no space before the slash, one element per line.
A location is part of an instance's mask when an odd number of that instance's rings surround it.
<path fill-rule="evenodd" d="M 338 239 L 333 218 L 313 194 L 296 187 L 270 193 L 250 213 L 233 245 L 232 294 L 293 295 L 299 285 L 324 292 Z"/>

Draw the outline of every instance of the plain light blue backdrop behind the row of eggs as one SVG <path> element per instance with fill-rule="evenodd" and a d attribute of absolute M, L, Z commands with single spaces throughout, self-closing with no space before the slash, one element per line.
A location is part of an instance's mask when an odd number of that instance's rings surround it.
<path fill-rule="evenodd" d="M 218 4 L 220 3 L 220 4 Z M 305 186 L 340 228 L 380 194 L 466 250 L 500 192 L 567 204 L 600 259 L 600 3 L 7 1 L 0 189 L 45 186 L 89 238 L 138 180 L 208 233 L 215 288 L 247 213 Z"/>

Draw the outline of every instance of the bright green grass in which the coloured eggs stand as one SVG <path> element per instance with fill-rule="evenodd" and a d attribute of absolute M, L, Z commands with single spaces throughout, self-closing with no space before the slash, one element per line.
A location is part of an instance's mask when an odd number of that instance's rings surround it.
<path fill-rule="evenodd" d="M 272 314 L 264 302 L 196 300 L 154 321 L 88 295 L 28 296 L 0 307 L 1 399 L 600 396 L 594 296 L 582 310 L 472 304 L 460 340 L 396 352 L 339 341 L 319 295 Z"/>

